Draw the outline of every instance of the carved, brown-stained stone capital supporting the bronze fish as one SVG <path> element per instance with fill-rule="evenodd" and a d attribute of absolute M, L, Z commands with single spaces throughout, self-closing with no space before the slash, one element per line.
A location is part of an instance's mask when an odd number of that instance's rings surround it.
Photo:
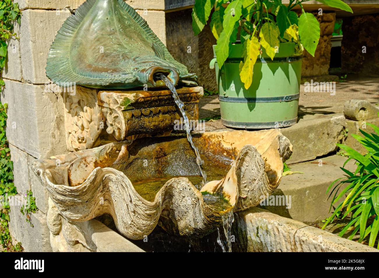
<path fill-rule="evenodd" d="M 199 118 L 202 87 L 177 90 L 189 120 Z M 75 86 L 63 93 L 66 145 L 80 151 L 109 141 L 167 135 L 180 120 L 169 90 L 111 91 Z M 111 136 L 109 136 L 111 135 Z"/>

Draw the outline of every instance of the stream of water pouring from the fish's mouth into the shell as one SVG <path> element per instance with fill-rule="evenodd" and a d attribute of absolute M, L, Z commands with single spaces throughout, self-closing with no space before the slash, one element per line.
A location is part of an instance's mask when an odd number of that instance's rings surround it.
<path fill-rule="evenodd" d="M 171 81 L 165 75 L 160 74 L 160 75 L 158 75 L 158 78 L 162 79 L 164 84 L 166 84 L 166 86 L 171 90 L 172 96 L 174 97 L 174 101 L 175 101 L 176 105 L 179 107 L 180 113 L 182 114 L 184 126 L 185 126 L 186 133 L 187 133 L 187 140 L 188 140 L 189 144 L 191 144 L 191 147 L 193 148 L 193 150 L 196 154 L 196 163 L 199 166 L 200 173 L 203 177 L 202 185 L 204 186 L 205 183 L 207 182 L 207 175 L 205 174 L 205 172 L 203 171 L 203 168 L 202 168 L 204 161 L 201 159 L 199 150 L 197 149 L 197 147 L 195 146 L 195 144 L 192 141 L 191 129 L 189 127 L 189 120 L 188 120 L 188 117 L 186 115 L 186 112 L 184 111 L 184 103 L 183 103 L 183 101 L 180 100 L 178 93 L 175 90 L 174 84 L 172 84 Z"/>

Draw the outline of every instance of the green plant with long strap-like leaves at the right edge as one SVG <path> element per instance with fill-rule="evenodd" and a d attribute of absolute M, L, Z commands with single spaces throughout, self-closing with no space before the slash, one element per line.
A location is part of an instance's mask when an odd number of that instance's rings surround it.
<path fill-rule="evenodd" d="M 354 229 L 349 239 L 352 239 L 359 231 L 358 242 L 369 237 L 368 245 L 374 247 L 379 230 L 379 127 L 370 123 L 367 123 L 367 126 L 372 127 L 374 133 L 369 134 L 359 129 L 363 137 L 351 135 L 365 147 L 368 151 L 366 155 L 346 145 L 337 144 L 348 157 L 341 167 L 347 177 L 335 180 L 327 189 L 329 197 L 333 196 L 330 209 L 334 205 L 337 207 L 332 216 L 326 220 L 323 229 L 334 220 L 348 220 L 348 224 L 341 230 L 339 236 Z M 350 160 L 356 161 L 357 168 L 354 173 L 345 169 L 346 163 Z M 345 185 L 346 187 L 343 188 Z M 368 221 L 370 218 L 374 219 L 372 223 Z"/>

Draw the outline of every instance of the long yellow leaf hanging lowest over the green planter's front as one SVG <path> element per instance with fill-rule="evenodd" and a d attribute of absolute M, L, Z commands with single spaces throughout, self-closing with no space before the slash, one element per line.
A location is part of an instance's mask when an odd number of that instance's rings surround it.
<path fill-rule="evenodd" d="M 245 40 L 243 43 L 244 62 L 240 62 L 240 78 L 246 89 L 249 89 L 253 81 L 253 67 L 260 53 L 260 44 L 257 37 Z"/>

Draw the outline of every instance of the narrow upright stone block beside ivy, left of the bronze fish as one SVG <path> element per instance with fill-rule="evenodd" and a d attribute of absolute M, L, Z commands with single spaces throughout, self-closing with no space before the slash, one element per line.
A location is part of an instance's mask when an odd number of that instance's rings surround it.
<path fill-rule="evenodd" d="M 13 30 L 17 36 L 20 36 L 20 26 L 16 23 Z M 8 57 L 3 70 L 3 78 L 21 81 L 22 68 L 21 68 L 21 55 L 20 55 L 20 41 L 12 38 L 7 41 L 8 43 Z"/>

